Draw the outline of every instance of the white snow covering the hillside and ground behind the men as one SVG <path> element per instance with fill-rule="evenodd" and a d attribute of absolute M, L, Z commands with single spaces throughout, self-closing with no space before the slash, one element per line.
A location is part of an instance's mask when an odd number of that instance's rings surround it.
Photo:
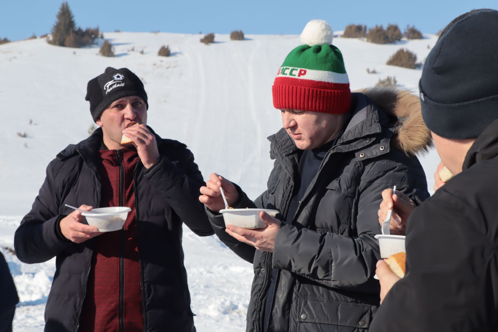
<path fill-rule="evenodd" d="M 199 42 L 200 35 L 105 36 L 115 47 L 115 58 L 98 56 L 98 46 L 62 48 L 44 39 L 0 45 L 0 105 L 3 123 L 8 123 L 0 132 L 0 250 L 20 297 L 14 331 L 43 330 L 54 260 L 27 265 L 6 248 L 12 248 L 15 228 L 29 211 L 48 162 L 67 144 L 88 136 L 93 122 L 84 100 L 86 84 L 107 66 L 128 67 L 142 79 L 149 96 L 148 124 L 162 137 L 186 143 L 206 178 L 217 172 L 255 198 L 272 167 L 265 137 L 280 128 L 281 120 L 272 107 L 271 85 L 287 53 L 299 45 L 298 36 L 247 35 L 247 40 L 230 41 L 228 35 L 216 35 L 217 42 L 209 46 Z M 400 86 L 416 92 L 420 70 L 385 62 L 401 47 L 423 61 L 435 41 L 434 35 L 425 35 L 395 45 L 347 38 L 336 38 L 334 44 L 343 52 L 352 90 L 395 76 Z M 171 57 L 157 56 L 163 44 L 170 46 Z M 367 74 L 367 68 L 378 74 Z M 432 189 L 439 158 L 431 151 L 421 162 Z M 250 264 L 216 237 L 200 238 L 184 230 L 197 330 L 244 331 Z"/>

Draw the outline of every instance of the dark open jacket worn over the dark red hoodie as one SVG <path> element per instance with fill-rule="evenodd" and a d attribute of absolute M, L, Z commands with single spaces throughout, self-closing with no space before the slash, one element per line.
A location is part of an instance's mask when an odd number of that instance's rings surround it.
<path fill-rule="evenodd" d="M 200 236 L 213 234 L 213 229 L 198 200 L 203 178 L 194 156 L 178 141 L 157 135 L 156 140 L 160 160 L 148 170 L 138 162 L 134 171 L 144 331 L 192 332 L 182 222 Z M 57 155 L 47 167 L 31 211 L 15 232 L 15 251 L 21 261 L 38 263 L 57 257 L 45 331 L 77 330 L 96 238 L 67 242 L 57 236 L 56 227 L 59 219 L 72 212 L 64 204 L 100 206 L 96 158 L 101 144 L 99 128 Z"/>

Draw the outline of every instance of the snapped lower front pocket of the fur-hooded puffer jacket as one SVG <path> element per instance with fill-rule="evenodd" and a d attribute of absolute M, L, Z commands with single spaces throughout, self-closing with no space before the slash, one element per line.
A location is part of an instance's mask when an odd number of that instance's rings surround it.
<path fill-rule="evenodd" d="M 348 302 L 324 302 L 301 297 L 298 301 L 299 332 L 361 332 L 372 320 L 372 307 Z"/>

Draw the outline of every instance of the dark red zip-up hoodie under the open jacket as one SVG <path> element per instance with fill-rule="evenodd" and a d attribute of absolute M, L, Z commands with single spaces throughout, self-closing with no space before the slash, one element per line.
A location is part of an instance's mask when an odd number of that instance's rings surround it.
<path fill-rule="evenodd" d="M 136 237 L 134 150 L 101 150 L 101 206 L 131 208 L 124 227 L 96 237 L 78 332 L 143 331 Z"/>

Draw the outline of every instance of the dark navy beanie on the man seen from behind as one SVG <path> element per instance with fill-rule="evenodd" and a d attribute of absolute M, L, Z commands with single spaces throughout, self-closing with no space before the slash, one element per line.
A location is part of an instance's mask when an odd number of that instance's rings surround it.
<path fill-rule="evenodd" d="M 498 118 L 498 11 L 464 17 L 436 43 L 419 82 L 422 117 L 437 135 L 477 138 Z"/>

